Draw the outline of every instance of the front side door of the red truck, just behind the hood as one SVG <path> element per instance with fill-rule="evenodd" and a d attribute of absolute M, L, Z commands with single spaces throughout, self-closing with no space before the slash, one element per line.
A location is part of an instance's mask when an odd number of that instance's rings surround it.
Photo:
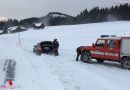
<path fill-rule="evenodd" d="M 105 58 L 105 40 L 99 39 L 95 44 L 95 48 L 91 51 L 91 56 L 94 58 Z"/>

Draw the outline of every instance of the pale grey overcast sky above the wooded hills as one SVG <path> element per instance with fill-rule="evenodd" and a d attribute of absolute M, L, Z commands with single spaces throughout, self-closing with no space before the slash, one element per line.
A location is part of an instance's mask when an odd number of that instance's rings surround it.
<path fill-rule="evenodd" d="M 23 19 L 44 16 L 52 11 L 76 16 L 86 8 L 118 4 L 115 1 L 119 0 L 0 0 L 0 17 Z"/>

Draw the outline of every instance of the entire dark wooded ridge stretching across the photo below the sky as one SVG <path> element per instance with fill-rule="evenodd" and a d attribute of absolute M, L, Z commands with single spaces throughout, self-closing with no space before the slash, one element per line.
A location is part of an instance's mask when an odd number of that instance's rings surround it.
<path fill-rule="evenodd" d="M 24 26 L 26 28 L 30 28 L 34 23 L 39 22 L 43 22 L 45 25 L 49 26 L 56 26 L 119 20 L 130 20 L 129 4 L 101 9 L 99 7 L 94 7 L 90 11 L 85 9 L 75 17 L 58 12 L 51 12 L 44 17 L 32 17 L 20 21 L 10 19 L 6 22 L 0 22 L 0 29 L 6 29 L 11 26 Z"/>

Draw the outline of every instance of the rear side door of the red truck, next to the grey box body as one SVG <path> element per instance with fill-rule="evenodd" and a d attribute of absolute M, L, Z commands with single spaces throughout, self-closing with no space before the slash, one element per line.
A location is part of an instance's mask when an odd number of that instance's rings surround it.
<path fill-rule="evenodd" d="M 119 60 L 119 40 L 107 40 L 105 58 L 110 60 Z"/>

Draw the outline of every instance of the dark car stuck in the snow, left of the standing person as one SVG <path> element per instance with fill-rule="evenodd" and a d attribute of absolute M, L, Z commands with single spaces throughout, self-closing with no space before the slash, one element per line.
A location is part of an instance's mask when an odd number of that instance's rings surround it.
<path fill-rule="evenodd" d="M 36 55 L 41 55 L 42 53 L 43 54 L 55 54 L 54 45 L 51 41 L 42 41 L 42 42 L 34 45 L 33 52 L 35 52 Z"/>

